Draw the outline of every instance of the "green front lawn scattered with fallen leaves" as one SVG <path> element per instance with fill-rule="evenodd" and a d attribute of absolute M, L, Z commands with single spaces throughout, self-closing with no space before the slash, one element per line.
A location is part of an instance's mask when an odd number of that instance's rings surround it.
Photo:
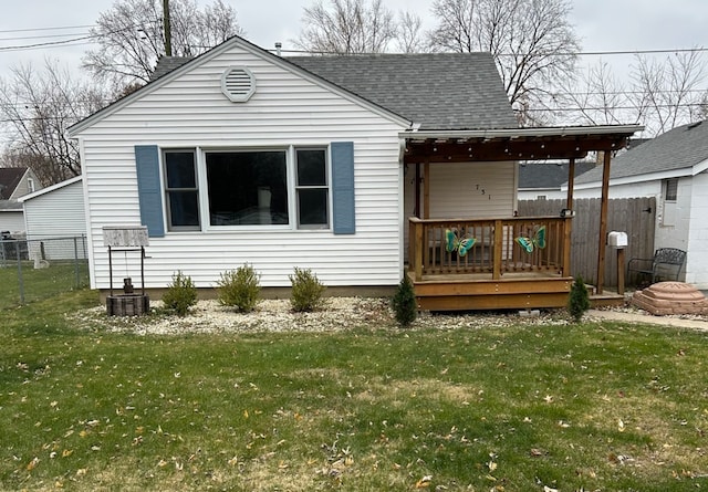
<path fill-rule="evenodd" d="M 705 333 L 137 336 L 62 314 L 96 303 L 0 313 L 3 490 L 708 488 Z"/>

